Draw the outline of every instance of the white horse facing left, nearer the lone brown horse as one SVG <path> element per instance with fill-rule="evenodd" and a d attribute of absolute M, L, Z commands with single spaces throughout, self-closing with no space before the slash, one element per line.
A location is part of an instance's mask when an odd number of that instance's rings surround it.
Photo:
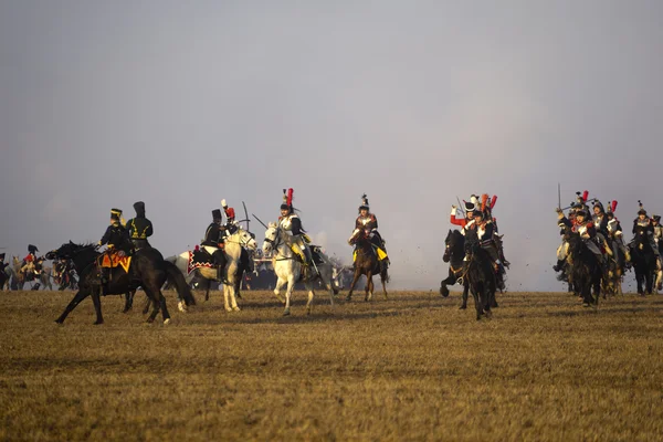
<path fill-rule="evenodd" d="M 283 228 L 271 222 L 270 225 L 267 225 L 267 231 L 265 232 L 263 252 L 271 253 L 273 251 L 272 264 L 277 278 L 276 286 L 274 287 L 274 294 L 278 301 L 283 302 L 280 292 L 281 287 L 287 283 L 287 290 L 285 291 L 285 311 L 283 312 L 283 315 L 287 316 L 290 315 L 293 288 L 295 283 L 297 283 L 302 276 L 302 263 L 297 260 L 295 253 L 291 249 L 291 236 L 285 232 L 285 230 L 283 230 Z M 329 302 L 332 303 L 332 306 L 334 306 L 335 290 L 332 282 L 333 265 L 329 261 L 329 257 L 327 257 L 324 253 L 318 252 L 318 254 L 323 260 L 323 263 L 316 264 L 315 266 L 312 265 L 306 277 L 302 278 L 304 286 L 308 291 L 308 302 L 306 303 L 307 314 L 311 314 L 313 296 L 315 295 L 313 292 L 312 282 L 317 278 L 320 278 L 325 287 L 327 287 L 329 291 Z"/>

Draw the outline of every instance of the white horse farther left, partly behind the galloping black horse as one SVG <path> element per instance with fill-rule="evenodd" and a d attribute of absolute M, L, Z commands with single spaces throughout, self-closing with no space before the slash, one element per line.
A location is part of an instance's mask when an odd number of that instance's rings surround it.
<path fill-rule="evenodd" d="M 236 287 L 241 282 L 241 275 L 238 272 L 238 264 L 240 262 L 240 257 L 242 255 L 242 248 L 248 248 L 251 250 L 257 249 L 257 243 L 253 235 L 243 230 L 238 229 L 236 232 L 225 238 L 224 241 L 225 246 L 223 248 L 223 253 L 225 254 L 225 267 L 223 269 L 223 303 L 227 312 L 239 312 L 240 307 L 238 306 L 238 301 L 235 296 Z M 182 252 L 179 255 L 168 256 L 166 261 L 169 261 L 177 265 L 177 267 L 185 274 L 188 275 L 188 265 L 189 265 L 189 252 Z M 191 273 L 193 274 L 193 273 Z M 198 274 L 206 280 L 217 281 L 217 269 L 215 267 L 200 267 L 198 269 Z M 208 284 L 208 296 L 209 297 L 209 284 Z M 207 298 L 206 298 L 207 299 Z"/>

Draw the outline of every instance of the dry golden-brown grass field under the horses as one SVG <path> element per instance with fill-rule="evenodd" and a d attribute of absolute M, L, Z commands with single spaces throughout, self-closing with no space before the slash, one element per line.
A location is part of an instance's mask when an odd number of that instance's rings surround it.
<path fill-rule="evenodd" d="M 358 295 L 360 295 L 358 293 Z M 566 293 L 318 295 L 293 316 L 266 292 L 218 292 L 172 324 L 71 292 L 0 293 L 1 440 L 663 440 L 663 296 L 582 308 Z M 200 295 L 197 296 L 202 299 Z"/>

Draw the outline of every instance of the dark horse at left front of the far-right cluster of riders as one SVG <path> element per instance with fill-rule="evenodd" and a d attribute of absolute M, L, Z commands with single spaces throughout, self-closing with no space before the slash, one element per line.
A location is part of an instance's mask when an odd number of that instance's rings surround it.
<path fill-rule="evenodd" d="M 598 305 L 603 277 L 601 263 L 592 251 L 587 248 L 579 233 L 567 229 L 565 239 L 569 243 L 567 262 L 573 291 L 582 298 L 585 307 L 589 307 L 591 304 Z"/>

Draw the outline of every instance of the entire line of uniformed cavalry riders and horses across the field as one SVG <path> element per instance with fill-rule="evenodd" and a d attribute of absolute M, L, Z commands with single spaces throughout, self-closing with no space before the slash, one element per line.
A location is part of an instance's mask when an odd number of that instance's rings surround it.
<path fill-rule="evenodd" d="M 558 262 L 554 266 L 559 272 L 558 280 L 568 284 L 583 306 L 598 305 L 603 294 L 622 294 L 621 283 L 629 269 L 635 271 L 638 292 L 654 293 L 661 290 L 663 271 L 661 246 L 663 229 L 660 217 L 651 219 L 640 203 L 638 218 L 633 221 L 633 240 L 625 244 L 623 232 L 614 217 L 617 201 L 604 209 L 597 199 L 588 199 L 588 191 L 577 192 L 577 198 L 568 208 L 558 207 L 558 225 L 562 243 L 557 251 Z M 496 292 L 504 293 L 508 261 L 504 256 L 503 235 L 498 233 L 493 209 L 497 197 L 472 194 L 467 201 L 459 200 L 452 206 L 450 222 L 460 230 L 449 230 L 445 238 L 443 261 L 449 263 L 449 275 L 441 283 L 440 294 L 449 296 L 449 285 L 463 287 L 461 309 L 467 306 L 469 294 L 474 298 L 476 319 L 491 317 L 492 308 L 497 307 Z M 639 201 L 640 202 L 640 201 Z M 589 203 L 593 203 L 590 215 Z M 148 322 L 155 320 L 161 312 L 165 324 L 170 322 L 166 299 L 161 292 L 173 287 L 177 292 L 178 308 L 196 304 L 191 287 L 204 290 L 209 299 L 211 284 L 222 286 L 224 307 L 228 312 L 239 311 L 236 298 L 241 298 L 241 282 L 248 275 L 257 274 L 255 264 L 264 270 L 269 263 L 275 275 L 274 294 L 284 304 L 284 315 L 291 313 L 291 298 L 296 284 L 308 293 L 306 311 L 312 311 L 314 284 L 326 288 L 330 304 L 338 294 L 338 280 L 343 269 L 327 256 L 322 248 L 312 243 L 302 225 L 298 210 L 293 207 L 293 189 L 284 189 L 281 217 L 277 222 L 263 223 L 266 229 L 264 243 L 257 249 L 255 235 L 249 231 L 250 220 L 244 204 L 244 220 L 235 220 L 233 208 L 221 201 L 220 209 L 212 211 L 212 223 L 206 230 L 200 246 L 178 255 L 164 257 L 148 241 L 154 228 L 145 215 L 145 203 L 134 204 L 136 217 L 129 221 L 122 218 L 122 210 L 110 210 L 110 224 L 96 244 L 64 243 L 61 248 L 38 257 L 39 250 L 29 245 L 29 255 L 21 262 L 13 256 L 13 265 L 4 263 L 0 253 L 0 288 L 10 283 L 21 290 L 25 283 L 34 282 L 51 288 L 51 280 L 59 290 L 75 291 L 74 298 L 66 306 L 56 323 L 62 324 L 67 315 L 87 296 L 91 296 L 96 313 L 95 324 L 103 323 L 101 296 L 124 295 L 123 313 L 133 307 L 134 295 L 140 287 L 147 304 L 144 314 L 152 312 Z M 564 211 L 568 210 L 565 215 Z M 241 223 L 246 223 L 243 229 Z M 387 298 L 386 285 L 389 282 L 389 256 L 386 242 L 378 232 L 377 217 L 370 212 L 368 198 L 361 197 L 359 215 L 348 243 L 354 246 L 352 278 L 346 301 L 350 301 L 359 278 L 366 276 L 365 301 L 370 301 L 373 292 L 372 276 L 379 276 L 382 293 Z M 105 250 L 101 250 L 106 245 Z M 53 270 L 44 266 L 45 260 L 53 260 Z M 273 277 L 273 276 L 272 276 Z M 285 297 L 281 290 L 285 290 Z"/>

